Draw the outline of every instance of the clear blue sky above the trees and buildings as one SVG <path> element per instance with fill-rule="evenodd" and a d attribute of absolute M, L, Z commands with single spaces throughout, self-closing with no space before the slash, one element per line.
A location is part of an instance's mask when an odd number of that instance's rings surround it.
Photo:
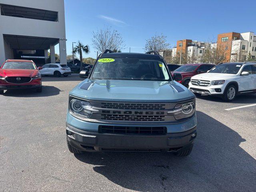
<path fill-rule="evenodd" d="M 146 39 L 164 34 L 171 47 L 180 39 L 216 40 L 224 32 L 256 32 L 255 0 L 65 0 L 67 54 L 72 42 L 92 47 L 92 32 L 104 26 L 118 30 L 122 52 L 144 52 Z"/>

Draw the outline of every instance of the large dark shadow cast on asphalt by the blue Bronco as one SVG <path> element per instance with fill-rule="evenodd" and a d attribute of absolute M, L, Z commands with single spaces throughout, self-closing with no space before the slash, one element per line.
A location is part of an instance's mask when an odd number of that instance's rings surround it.
<path fill-rule="evenodd" d="M 198 138 L 187 157 L 128 152 L 75 157 L 95 165 L 93 170 L 111 182 L 135 191 L 254 191 L 256 160 L 239 146 L 246 140 L 203 112 L 198 111 L 197 117 Z"/>

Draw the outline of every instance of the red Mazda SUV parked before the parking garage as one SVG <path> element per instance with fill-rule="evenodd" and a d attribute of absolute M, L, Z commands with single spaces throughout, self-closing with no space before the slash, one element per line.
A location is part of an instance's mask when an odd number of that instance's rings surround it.
<path fill-rule="evenodd" d="M 12 89 L 42 92 L 41 74 L 32 60 L 8 59 L 4 62 L 0 68 L 0 94 Z"/>

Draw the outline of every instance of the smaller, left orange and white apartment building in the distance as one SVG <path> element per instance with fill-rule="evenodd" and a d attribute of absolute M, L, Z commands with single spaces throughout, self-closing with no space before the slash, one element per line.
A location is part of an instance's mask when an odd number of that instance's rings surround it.
<path fill-rule="evenodd" d="M 194 62 L 200 62 L 203 55 L 204 42 L 192 41 L 190 39 L 184 39 L 177 41 L 177 45 L 172 49 L 172 57 L 180 53 L 186 54 L 190 58 L 194 58 Z"/>

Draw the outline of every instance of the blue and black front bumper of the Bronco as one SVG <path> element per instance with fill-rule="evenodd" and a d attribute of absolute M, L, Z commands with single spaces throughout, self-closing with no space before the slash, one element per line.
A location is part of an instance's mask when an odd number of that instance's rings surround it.
<path fill-rule="evenodd" d="M 72 125 L 71 125 L 72 124 Z M 74 126 L 76 125 L 76 126 Z M 166 135 L 102 134 L 102 124 L 85 122 L 67 115 L 67 139 L 71 146 L 82 151 L 177 151 L 194 142 L 196 138 L 196 116 L 180 124 L 166 126 Z M 108 124 L 105 124 L 108 125 Z M 112 124 L 114 125 L 114 124 Z M 116 126 L 126 126 L 124 124 Z M 132 126 L 132 125 L 129 125 Z M 138 125 L 133 125 L 138 126 Z M 140 125 L 142 126 L 142 125 Z M 149 126 L 149 125 L 146 125 Z M 155 125 L 157 126 L 157 125 Z M 72 134 L 70 135 L 70 132 Z M 192 136 L 192 134 L 194 134 Z"/>

